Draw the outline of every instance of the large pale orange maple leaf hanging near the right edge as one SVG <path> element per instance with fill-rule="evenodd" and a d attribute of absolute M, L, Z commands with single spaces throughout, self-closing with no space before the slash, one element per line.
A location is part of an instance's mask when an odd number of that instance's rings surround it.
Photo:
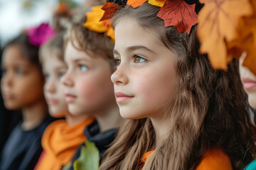
<path fill-rule="evenodd" d="M 239 19 L 252 13 L 250 0 L 201 0 L 204 6 L 198 14 L 198 38 L 203 53 L 208 53 L 215 69 L 227 69 L 227 42 L 238 35 Z"/>

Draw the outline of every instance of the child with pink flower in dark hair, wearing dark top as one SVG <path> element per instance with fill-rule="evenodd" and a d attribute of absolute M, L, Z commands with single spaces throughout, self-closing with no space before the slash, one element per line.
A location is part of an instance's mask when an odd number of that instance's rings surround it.
<path fill-rule="evenodd" d="M 41 136 L 51 122 L 43 96 L 43 73 L 39 46 L 52 34 L 48 24 L 31 28 L 11 40 L 1 61 L 1 94 L 4 106 L 20 109 L 23 120 L 16 125 L 1 153 L 0 169 L 33 169 L 42 152 Z"/>

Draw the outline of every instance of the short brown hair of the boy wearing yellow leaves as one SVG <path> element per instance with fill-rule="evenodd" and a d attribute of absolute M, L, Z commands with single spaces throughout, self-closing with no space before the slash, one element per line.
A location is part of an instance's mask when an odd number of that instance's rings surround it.
<path fill-rule="evenodd" d="M 78 23 L 73 23 L 68 35 L 65 37 L 65 45 L 68 40 L 72 43 L 73 47 L 83 52 L 92 52 L 100 55 L 108 60 L 114 66 L 113 48 L 114 43 L 105 35 L 105 33 L 96 33 L 95 31 L 88 30 L 83 26 L 87 20 L 86 16 Z M 78 45 L 75 45 L 78 42 Z M 64 45 L 64 48 L 65 48 Z"/>

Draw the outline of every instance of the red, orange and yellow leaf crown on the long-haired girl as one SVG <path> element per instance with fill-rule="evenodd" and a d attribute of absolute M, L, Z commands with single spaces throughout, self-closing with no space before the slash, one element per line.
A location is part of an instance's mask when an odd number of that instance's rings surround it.
<path fill-rule="evenodd" d="M 100 21 L 112 18 L 114 13 L 124 6 L 137 8 L 146 1 L 153 6 L 161 7 L 157 16 L 164 20 L 165 27 L 174 26 L 179 33 L 186 31 L 188 34 L 192 26 L 198 22 L 197 13 L 202 7 L 198 0 L 108 0 L 102 6 L 105 13 Z"/>

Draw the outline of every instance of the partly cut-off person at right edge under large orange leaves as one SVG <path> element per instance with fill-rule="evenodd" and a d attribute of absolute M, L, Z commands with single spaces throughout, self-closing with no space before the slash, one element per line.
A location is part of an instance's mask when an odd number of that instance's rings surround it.
<path fill-rule="evenodd" d="M 240 58 L 240 79 L 252 107 L 252 121 L 256 124 L 256 1 L 224 0 L 220 3 L 215 0 L 204 3 L 198 15 L 200 50 L 208 54 L 215 69 L 226 69 L 233 57 Z M 221 27 L 224 24 L 225 29 Z M 245 169 L 255 170 L 256 160 Z"/>

